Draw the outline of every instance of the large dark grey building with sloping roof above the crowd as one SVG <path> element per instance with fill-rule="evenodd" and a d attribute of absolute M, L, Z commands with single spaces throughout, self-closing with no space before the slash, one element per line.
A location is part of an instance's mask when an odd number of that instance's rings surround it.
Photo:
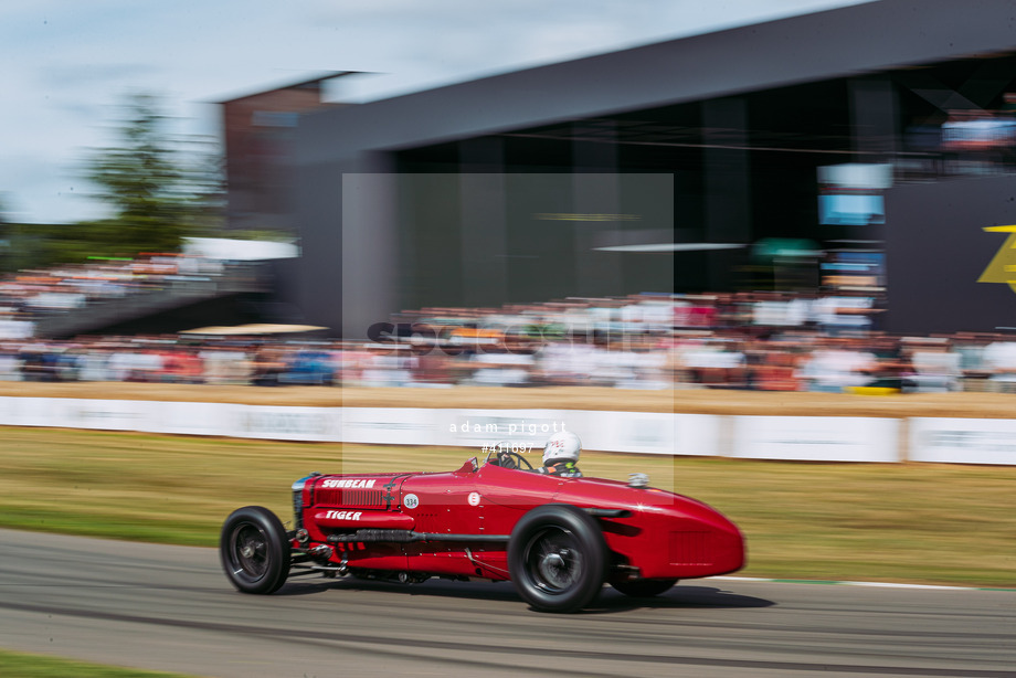
<path fill-rule="evenodd" d="M 794 285 L 867 267 L 889 331 L 1016 326 L 985 275 L 1009 237 L 985 229 L 1016 223 L 1014 19 L 882 0 L 301 115 L 290 300 L 358 337 L 424 306 L 772 288 L 759 253 L 792 242 L 835 258 Z"/>

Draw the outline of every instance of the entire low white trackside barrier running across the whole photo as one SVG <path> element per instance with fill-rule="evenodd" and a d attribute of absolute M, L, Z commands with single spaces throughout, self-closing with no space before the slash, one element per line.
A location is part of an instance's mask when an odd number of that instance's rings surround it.
<path fill-rule="evenodd" d="M 472 448 L 501 441 L 539 448 L 553 432 L 568 430 L 579 433 L 588 449 L 637 454 L 1016 464 L 1016 420 L 914 417 L 906 423 L 885 417 L 286 407 L 0 396 L 0 425 L 7 426 Z"/>

